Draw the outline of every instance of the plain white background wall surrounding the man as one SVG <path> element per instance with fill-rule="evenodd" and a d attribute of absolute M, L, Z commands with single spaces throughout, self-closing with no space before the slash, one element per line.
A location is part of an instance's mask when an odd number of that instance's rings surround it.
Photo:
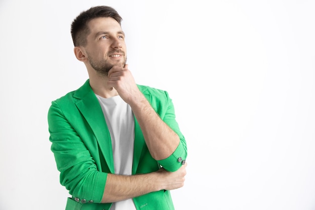
<path fill-rule="evenodd" d="M 138 84 L 167 90 L 188 144 L 176 209 L 315 209 L 315 3 L 0 0 L 0 210 L 64 209 L 52 100 L 88 78 L 70 24 L 122 16 Z"/>

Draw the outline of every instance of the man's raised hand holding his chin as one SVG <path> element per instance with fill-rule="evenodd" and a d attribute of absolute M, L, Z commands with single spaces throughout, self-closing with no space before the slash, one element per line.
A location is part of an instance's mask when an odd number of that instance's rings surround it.
<path fill-rule="evenodd" d="M 108 86 L 115 88 L 119 96 L 128 104 L 140 93 L 128 64 L 124 67 L 114 65 L 108 72 Z"/>

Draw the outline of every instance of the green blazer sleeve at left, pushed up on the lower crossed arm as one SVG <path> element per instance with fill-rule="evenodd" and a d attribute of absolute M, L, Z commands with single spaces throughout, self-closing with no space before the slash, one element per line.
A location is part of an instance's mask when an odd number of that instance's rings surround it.
<path fill-rule="evenodd" d="M 101 202 L 107 173 L 99 172 L 83 139 L 71 125 L 69 115 L 53 101 L 48 111 L 48 126 L 60 183 L 73 197 L 86 202 Z"/>

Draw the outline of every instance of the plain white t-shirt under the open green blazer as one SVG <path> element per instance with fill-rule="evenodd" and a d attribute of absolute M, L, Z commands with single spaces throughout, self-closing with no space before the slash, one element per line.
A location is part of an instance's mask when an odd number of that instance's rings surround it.
<path fill-rule="evenodd" d="M 129 104 L 120 96 L 96 95 L 111 135 L 115 174 L 131 175 L 134 145 L 134 117 Z M 114 202 L 111 210 L 136 210 L 133 200 Z"/>

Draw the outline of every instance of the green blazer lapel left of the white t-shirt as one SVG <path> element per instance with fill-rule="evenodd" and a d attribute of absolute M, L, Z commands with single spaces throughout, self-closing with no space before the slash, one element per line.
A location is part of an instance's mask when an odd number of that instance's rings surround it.
<path fill-rule="evenodd" d="M 109 170 L 111 173 L 114 173 L 111 136 L 102 108 L 91 89 L 90 80 L 87 80 L 87 82 L 74 93 L 73 97 L 79 99 L 75 105 L 91 126 Z"/>

